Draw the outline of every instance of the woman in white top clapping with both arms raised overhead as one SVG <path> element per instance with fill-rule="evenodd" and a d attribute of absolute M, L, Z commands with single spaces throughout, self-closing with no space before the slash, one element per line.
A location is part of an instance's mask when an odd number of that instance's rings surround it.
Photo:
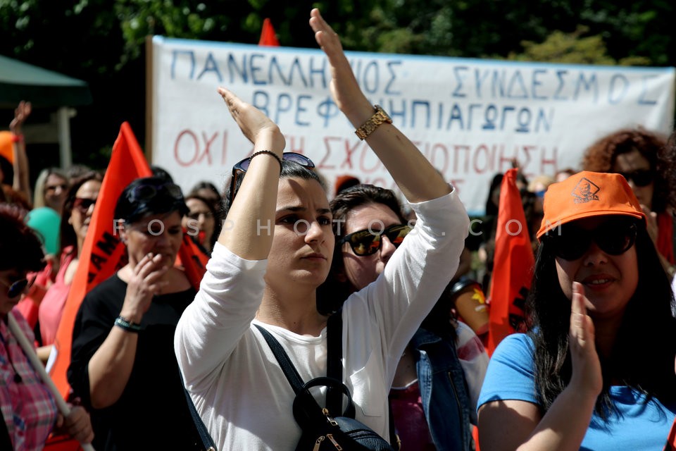
<path fill-rule="evenodd" d="M 374 108 L 339 37 L 316 9 L 310 24 L 329 59 L 334 100 L 360 128 Z M 315 290 L 330 269 L 331 211 L 312 162 L 282 154 L 284 137 L 275 123 L 227 89 L 219 92 L 253 142 L 253 155 L 233 168 L 226 201 L 232 229 L 221 233 L 213 249 L 195 301 L 177 326 L 175 350 L 219 450 L 294 450 L 301 436 L 292 412 L 294 390 L 256 326 L 282 344 L 303 381 L 325 376 L 327 317 L 317 310 Z M 394 125 L 364 129 L 418 216 L 415 233 L 382 275 L 351 295 L 342 310 L 342 372 L 356 419 L 387 437 L 387 393 L 396 365 L 458 266 L 468 216 L 456 193 Z M 324 405 L 322 396 L 316 399 Z"/>

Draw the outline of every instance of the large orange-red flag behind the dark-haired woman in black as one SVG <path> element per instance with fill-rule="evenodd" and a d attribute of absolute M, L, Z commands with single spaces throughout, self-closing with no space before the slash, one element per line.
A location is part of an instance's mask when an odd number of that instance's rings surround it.
<path fill-rule="evenodd" d="M 63 307 L 63 316 L 56 331 L 54 348 L 56 357 L 52 355 L 54 364 L 49 374 L 59 392 L 68 399 L 70 385 L 66 379 L 66 371 L 70 365 L 70 346 L 73 340 L 75 316 L 84 295 L 96 284 L 110 277 L 127 262 L 125 245 L 120 241 L 115 230 L 113 216 L 118 197 L 133 180 L 153 175 L 143 151 L 134 136 L 129 123 L 120 127 L 118 139 L 113 144 L 111 161 L 108 163 L 104 181 L 101 184 L 99 198 L 96 199 L 94 213 L 89 222 L 87 237 L 84 238 L 80 264 L 77 266 L 73 283 L 70 285 L 68 299 Z M 189 237 L 183 240 L 179 256 L 183 262 L 187 276 L 194 287 L 204 275 L 206 257 L 196 257 L 201 253 Z"/>

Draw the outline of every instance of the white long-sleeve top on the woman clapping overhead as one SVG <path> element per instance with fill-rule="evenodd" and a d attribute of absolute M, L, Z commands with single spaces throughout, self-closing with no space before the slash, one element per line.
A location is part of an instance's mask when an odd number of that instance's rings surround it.
<path fill-rule="evenodd" d="M 344 383 L 356 419 L 387 438 L 387 393 L 406 344 L 456 272 L 468 215 L 453 191 L 411 204 L 415 229 L 384 272 L 343 307 Z M 261 333 L 281 343 L 303 381 L 326 375 L 326 328 L 308 337 L 254 319 L 267 261 L 247 261 L 217 244 L 175 351 L 186 387 L 219 451 L 292 451 L 301 436 L 294 391 Z M 315 395 L 325 405 L 325 393 Z"/>

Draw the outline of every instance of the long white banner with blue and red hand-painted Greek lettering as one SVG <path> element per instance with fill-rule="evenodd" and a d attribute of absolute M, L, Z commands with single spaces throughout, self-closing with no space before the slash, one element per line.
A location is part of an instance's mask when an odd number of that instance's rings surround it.
<path fill-rule="evenodd" d="M 184 191 L 200 180 L 225 187 L 251 144 L 230 118 L 218 86 L 265 111 L 309 156 L 332 195 L 339 175 L 394 188 L 365 142 L 333 104 L 318 49 L 154 37 L 148 136 L 153 164 Z M 356 78 L 482 214 L 489 183 L 517 159 L 527 176 L 579 168 L 585 147 L 623 127 L 668 133 L 675 69 L 347 52 Z M 415 168 L 411 168 L 415 170 Z"/>

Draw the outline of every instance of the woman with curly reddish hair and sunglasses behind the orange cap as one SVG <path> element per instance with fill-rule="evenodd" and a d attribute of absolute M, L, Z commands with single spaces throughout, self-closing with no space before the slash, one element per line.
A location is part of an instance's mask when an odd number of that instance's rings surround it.
<path fill-rule="evenodd" d="M 646 214 L 648 233 L 674 274 L 674 217 L 676 207 L 676 148 L 656 132 L 622 129 L 602 137 L 584 153 L 584 171 L 619 173 L 627 179 Z"/>

